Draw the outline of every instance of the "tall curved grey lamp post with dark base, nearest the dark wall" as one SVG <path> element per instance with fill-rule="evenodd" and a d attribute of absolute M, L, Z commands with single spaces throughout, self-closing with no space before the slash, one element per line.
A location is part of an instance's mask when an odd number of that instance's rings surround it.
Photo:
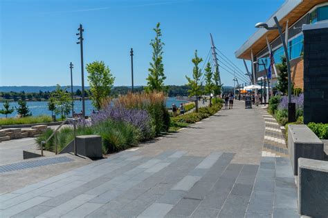
<path fill-rule="evenodd" d="M 287 63 L 287 74 L 288 74 L 288 121 L 294 122 L 295 117 L 295 103 L 291 102 L 291 63 L 289 62 L 288 50 L 286 46 L 286 41 L 282 34 L 282 26 L 280 26 L 277 17 L 273 17 L 276 26 L 269 27 L 267 23 L 256 23 L 255 28 L 265 28 L 266 30 L 278 30 L 280 34 L 280 39 L 282 41 L 282 46 L 284 47 L 284 55 L 286 57 Z"/>

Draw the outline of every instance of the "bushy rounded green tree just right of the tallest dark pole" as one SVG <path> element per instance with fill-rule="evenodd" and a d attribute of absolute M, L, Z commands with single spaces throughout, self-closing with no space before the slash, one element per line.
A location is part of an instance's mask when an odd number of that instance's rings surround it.
<path fill-rule="evenodd" d="M 111 88 L 115 77 L 111 75 L 109 67 L 104 66 L 103 61 L 93 61 L 93 63 L 86 64 L 88 71 L 88 81 L 90 86 L 93 106 L 100 110 L 102 100 L 111 94 Z"/>

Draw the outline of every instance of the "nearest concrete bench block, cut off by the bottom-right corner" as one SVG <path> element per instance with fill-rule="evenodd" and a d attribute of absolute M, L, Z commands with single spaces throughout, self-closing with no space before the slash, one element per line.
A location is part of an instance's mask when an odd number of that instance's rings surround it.
<path fill-rule="evenodd" d="M 298 159 L 298 210 L 309 217 L 328 217 L 328 161 Z"/>

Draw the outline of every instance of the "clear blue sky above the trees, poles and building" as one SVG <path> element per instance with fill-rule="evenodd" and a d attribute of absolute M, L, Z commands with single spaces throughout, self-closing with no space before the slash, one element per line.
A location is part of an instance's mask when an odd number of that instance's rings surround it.
<path fill-rule="evenodd" d="M 161 22 L 167 85 L 183 85 L 192 74 L 194 50 L 206 58 L 212 32 L 216 47 L 244 70 L 235 50 L 284 0 L 0 0 L 0 86 L 80 85 L 80 46 L 84 26 L 84 63 L 104 61 L 114 86 L 130 86 L 130 48 L 134 83 L 145 85 L 152 57 L 152 28 Z M 236 26 L 238 25 L 238 26 Z M 233 76 L 221 70 L 224 85 Z M 86 77 L 85 77 L 86 80 Z M 87 81 L 86 81 L 87 85 Z"/>

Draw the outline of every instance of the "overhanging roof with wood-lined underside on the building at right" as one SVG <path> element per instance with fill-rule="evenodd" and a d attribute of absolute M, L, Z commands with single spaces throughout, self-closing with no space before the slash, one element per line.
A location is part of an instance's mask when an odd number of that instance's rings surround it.
<path fill-rule="evenodd" d="M 266 23 L 268 23 L 268 26 L 275 26 L 273 17 L 277 17 L 282 27 L 286 26 L 286 21 L 289 22 L 289 26 L 292 26 L 293 23 L 309 12 L 311 8 L 325 2 L 327 0 L 287 0 Z M 277 30 L 257 29 L 242 47 L 235 52 L 235 57 L 250 60 L 250 50 L 253 50 L 253 54 L 257 54 L 266 47 L 266 37 L 271 42 L 278 36 L 279 32 Z"/>

